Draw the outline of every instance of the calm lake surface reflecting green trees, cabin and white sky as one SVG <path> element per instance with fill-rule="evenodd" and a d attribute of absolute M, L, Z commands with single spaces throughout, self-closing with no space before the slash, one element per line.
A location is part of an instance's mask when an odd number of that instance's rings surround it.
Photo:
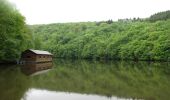
<path fill-rule="evenodd" d="M 0 100 L 170 98 L 169 63 L 55 60 L 50 70 L 31 66 L 0 65 Z"/>

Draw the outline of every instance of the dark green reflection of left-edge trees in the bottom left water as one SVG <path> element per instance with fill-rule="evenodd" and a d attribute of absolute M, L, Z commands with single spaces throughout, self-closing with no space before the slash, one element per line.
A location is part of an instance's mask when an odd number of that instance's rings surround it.
<path fill-rule="evenodd" d="M 30 79 L 16 65 L 0 65 L 0 100 L 20 100 L 30 87 Z"/>

